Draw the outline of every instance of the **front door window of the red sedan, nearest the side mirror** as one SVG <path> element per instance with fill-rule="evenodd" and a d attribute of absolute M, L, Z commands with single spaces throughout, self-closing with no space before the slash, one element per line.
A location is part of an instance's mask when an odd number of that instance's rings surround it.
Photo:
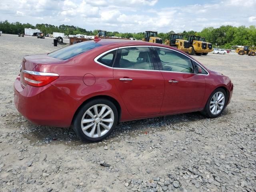
<path fill-rule="evenodd" d="M 191 59 L 187 56 L 168 49 L 156 48 L 162 64 L 162 70 L 173 72 L 193 73 Z"/>

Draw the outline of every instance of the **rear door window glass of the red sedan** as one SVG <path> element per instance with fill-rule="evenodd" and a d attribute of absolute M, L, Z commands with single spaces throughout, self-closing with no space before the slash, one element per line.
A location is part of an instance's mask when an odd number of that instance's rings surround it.
<path fill-rule="evenodd" d="M 148 47 L 130 47 L 118 49 L 115 68 L 154 70 Z"/>

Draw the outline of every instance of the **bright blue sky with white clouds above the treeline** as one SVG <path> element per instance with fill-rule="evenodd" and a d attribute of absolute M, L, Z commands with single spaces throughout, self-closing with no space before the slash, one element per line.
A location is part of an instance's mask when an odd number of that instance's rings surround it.
<path fill-rule="evenodd" d="M 0 21 L 118 32 L 256 25 L 256 0 L 1 0 Z"/>

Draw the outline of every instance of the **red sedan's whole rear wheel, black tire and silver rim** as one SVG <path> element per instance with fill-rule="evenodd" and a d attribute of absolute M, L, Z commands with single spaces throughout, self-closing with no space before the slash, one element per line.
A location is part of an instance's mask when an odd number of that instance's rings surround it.
<path fill-rule="evenodd" d="M 111 134 L 118 121 L 116 106 L 106 99 L 84 104 L 74 117 L 72 128 L 84 141 L 100 141 Z"/>

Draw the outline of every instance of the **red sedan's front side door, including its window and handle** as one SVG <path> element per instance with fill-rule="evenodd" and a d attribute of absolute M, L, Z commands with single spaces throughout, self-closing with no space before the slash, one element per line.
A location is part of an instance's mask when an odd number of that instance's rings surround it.
<path fill-rule="evenodd" d="M 165 82 L 162 113 L 196 110 L 203 107 L 205 79 L 208 74 L 194 74 L 194 64 L 188 56 L 168 48 L 154 48 Z"/>

